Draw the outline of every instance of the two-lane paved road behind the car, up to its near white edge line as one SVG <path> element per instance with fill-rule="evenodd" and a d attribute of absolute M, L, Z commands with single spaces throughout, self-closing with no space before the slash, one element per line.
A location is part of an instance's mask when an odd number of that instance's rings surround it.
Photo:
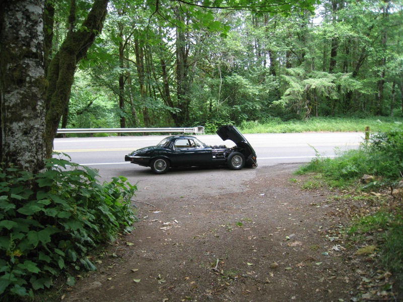
<path fill-rule="evenodd" d="M 258 164 L 307 162 L 318 154 L 335 156 L 337 150 L 356 148 L 363 141 L 364 133 L 263 133 L 245 134 L 256 151 Z M 72 157 L 73 162 L 102 169 L 104 165 L 128 165 L 124 155 L 136 148 L 157 144 L 164 136 L 122 136 L 91 138 L 56 138 L 54 150 Z M 198 135 L 209 144 L 223 144 L 218 135 Z M 228 146 L 233 145 L 229 140 Z M 134 165 L 131 165 L 134 166 Z M 132 167 L 133 168 L 133 167 Z"/>

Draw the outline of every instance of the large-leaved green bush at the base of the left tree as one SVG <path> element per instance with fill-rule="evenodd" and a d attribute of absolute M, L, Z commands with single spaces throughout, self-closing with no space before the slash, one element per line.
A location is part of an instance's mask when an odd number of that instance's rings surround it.
<path fill-rule="evenodd" d="M 71 269 L 95 270 L 89 251 L 129 232 L 137 191 L 123 177 L 100 184 L 95 170 L 66 160 L 46 161 L 37 175 L 0 169 L 0 300 L 33 296 Z"/>

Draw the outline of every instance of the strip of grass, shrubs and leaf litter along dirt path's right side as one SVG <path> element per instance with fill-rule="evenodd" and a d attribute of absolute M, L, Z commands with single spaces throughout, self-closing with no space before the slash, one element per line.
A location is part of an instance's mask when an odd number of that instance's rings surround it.
<path fill-rule="evenodd" d="M 346 234 L 354 245 L 375 238 L 369 254 L 380 254 L 380 264 L 393 274 L 395 287 L 403 289 L 403 126 L 383 126 L 357 150 L 335 159 L 316 157 L 297 174 L 313 173 L 308 187 L 324 181 L 349 192 L 346 198 L 362 201 L 362 212 L 352 215 Z M 316 185 L 312 185 L 315 183 Z M 340 198 L 340 197 L 338 197 Z M 369 204 L 369 209 L 365 205 Z M 371 250 L 372 249 L 372 250 Z M 385 290 L 391 289 L 392 285 Z"/>

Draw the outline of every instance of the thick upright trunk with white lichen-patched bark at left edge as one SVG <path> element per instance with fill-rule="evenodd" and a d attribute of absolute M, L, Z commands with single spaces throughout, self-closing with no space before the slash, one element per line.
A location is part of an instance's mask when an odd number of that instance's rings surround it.
<path fill-rule="evenodd" d="M 5 0 L 0 15 L 1 162 L 38 172 L 45 159 L 45 0 Z"/>

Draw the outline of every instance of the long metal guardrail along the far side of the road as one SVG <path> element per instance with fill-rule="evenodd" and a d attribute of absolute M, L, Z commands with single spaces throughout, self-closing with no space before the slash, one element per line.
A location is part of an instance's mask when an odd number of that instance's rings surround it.
<path fill-rule="evenodd" d="M 191 128 L 82 128 L 82 129 L 57 129 L 57 133 L 193 133 L 204 134 L 205 127 L 191 127 Z"/>

